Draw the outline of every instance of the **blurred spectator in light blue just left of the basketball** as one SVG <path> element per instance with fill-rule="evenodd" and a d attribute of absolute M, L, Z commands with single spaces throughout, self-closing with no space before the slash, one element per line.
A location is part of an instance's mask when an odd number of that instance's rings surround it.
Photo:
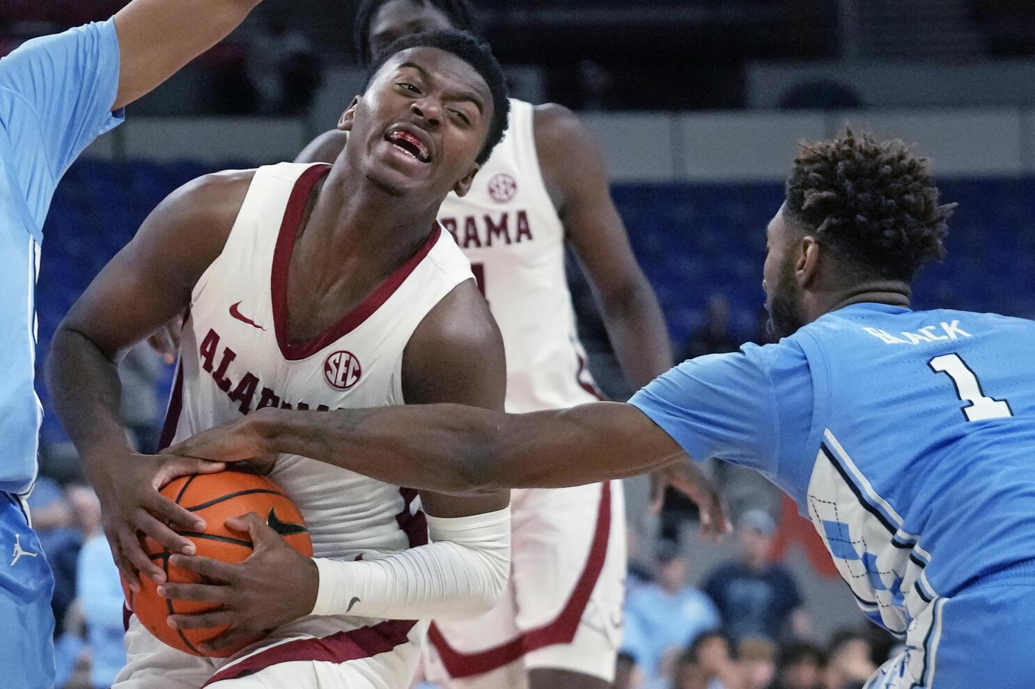
<path fill-rule="evenodd" d="M 110 687 L 125 664 L 122 648 L 122 587 L 119 570 L 100 527 L 100 503 L 86 486 L 69 488 L 85 540 L 79 552 L 76 591 L 86 618 L 87 642 L 95 689 Z"/>

